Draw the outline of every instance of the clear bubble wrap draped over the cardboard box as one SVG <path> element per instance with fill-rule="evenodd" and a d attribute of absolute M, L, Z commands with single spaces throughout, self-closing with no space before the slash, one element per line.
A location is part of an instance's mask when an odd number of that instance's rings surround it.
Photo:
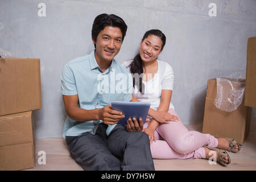
<path fill-rule="evenodd" d="M 216 78 L 217 94 L 214 105 L 226 112 L 232 112 L 241 105 L 245 93 L 245 75 L 238 78 Z"/>

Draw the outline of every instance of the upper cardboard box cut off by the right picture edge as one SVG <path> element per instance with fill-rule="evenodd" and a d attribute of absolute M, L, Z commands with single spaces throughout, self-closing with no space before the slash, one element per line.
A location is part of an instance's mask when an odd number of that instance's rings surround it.
<path fill-rule="evenodd" d="M 245 105 L 256 108 L 256 37 L 247 43 Z"/>

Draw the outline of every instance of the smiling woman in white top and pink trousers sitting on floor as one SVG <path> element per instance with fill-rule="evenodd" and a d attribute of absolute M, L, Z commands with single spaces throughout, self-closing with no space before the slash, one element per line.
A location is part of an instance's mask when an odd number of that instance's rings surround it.
<path fill-rule="evenodd" d="M 215 152 L 217 162 L 226 166 L 230 163 L 230 158 L 225 150 L 238 152 L 239 144 L 233 139 L 188 131 L 177 117 L 174 105 L 171 104 L 174 84 L 172 67 L 157 59 L 165 44 L 166 36 L 160 30 L 149 30 L 143 36 L 138 55 L 123 63 L 130 73 L 142 74 L 141 81 L 134 79 L 132 101 L 151 102 L 148 115 L 152 118 L 144 124 L 143 131 L 150 138 L 152 157 L 209 159 Z M 163 113 L 171 114 L 173 119 L 164 122 L 161 118 Z"/>

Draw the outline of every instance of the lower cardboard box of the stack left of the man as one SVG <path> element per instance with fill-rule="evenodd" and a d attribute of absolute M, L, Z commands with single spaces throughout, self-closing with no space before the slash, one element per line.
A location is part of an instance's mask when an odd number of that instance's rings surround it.
<path fill-rule="evenodd" d="M 0 117 L 0 170 L 35 167 L 32 111 Z"/>

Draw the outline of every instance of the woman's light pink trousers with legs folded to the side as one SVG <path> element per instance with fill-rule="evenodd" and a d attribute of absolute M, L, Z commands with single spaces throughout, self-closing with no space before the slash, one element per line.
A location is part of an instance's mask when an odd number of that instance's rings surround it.
<path fill-rule="evenodd" d="M 175 110 L 168 113 L 176 115 Z M 144 128 L 149 123 L 144 124 Z M 169 124 L 160 124 L 155 130 L 156 142 L 150 145 L 154 159 L 205 159 L 203 146 L 216 148 L 218 140 L 210 134 L 198 131 L 188 131 L 181 121 L 170 121 Z"/>

